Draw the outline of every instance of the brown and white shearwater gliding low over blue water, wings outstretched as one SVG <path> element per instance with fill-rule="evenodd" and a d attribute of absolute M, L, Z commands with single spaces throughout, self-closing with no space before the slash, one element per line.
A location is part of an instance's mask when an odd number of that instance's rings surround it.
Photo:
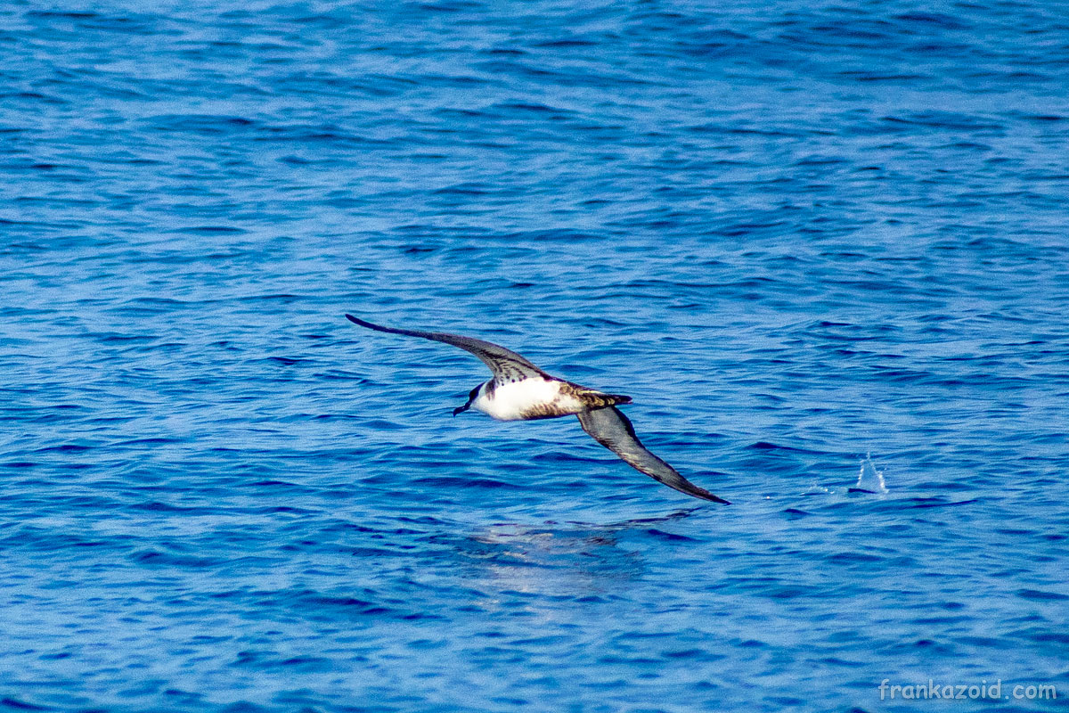
<path fill-rule="evenodd" d="M 631 421 L 617 408 L 618 404 L 631 403 L 631 397 L 605 393 L 551 376 L 515 352 L 481 339 L 438 331 L 394 329 L 359 320 L 352 314 L 346 314 L 345 317 L 353 324 L 375 331 L 420 337 L 459 346 L 490 367 L 494 377 L 471 389 L 467 403 L 454 408 L 453 416 L 469 408 L 500 421 L 530 421 L 574 415 L 578 417 L 583 430 L 594 440 L 636 470 L 680 493 L 730 505 L 679 475 L 676 468 L 642 446 Z"/>

